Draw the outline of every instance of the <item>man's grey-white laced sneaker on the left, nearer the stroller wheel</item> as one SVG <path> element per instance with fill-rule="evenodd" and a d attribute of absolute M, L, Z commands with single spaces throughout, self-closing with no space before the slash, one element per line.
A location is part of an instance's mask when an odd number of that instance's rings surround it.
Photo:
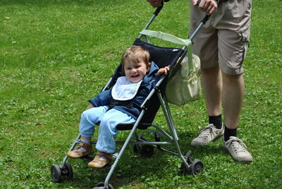
<path fill-rule="evenodd" d="M 200 135 L 197 138 L 194 138 L 191 142 L 192 146 L 197 145 L 207 145 L 212 140 L 219 138 L 224 133 L 224 127 L 218 129 L 214 126 L 214 124 L 209 124 L 207 127 L 200 130 Z"/>

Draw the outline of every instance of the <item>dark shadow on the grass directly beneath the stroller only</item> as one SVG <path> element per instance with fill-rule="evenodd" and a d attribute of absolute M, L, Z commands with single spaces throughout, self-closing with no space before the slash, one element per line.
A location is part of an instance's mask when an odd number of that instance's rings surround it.
<path fill-rule="evenodd" d="M 104 182 L 109 173 L 107 169 L 90 169 L 87 162 L 80 159 L 68 159 L 68 162 L 73 166 L 74 177 L 71 181 L 56 184 L 58 188 L 93 188 L 97 183 Z M 114 188 L 120 188 L 138 181 L 146 181 L 151 176 L 159 178 L 166 174 L 166 170 L 171 170 L 171 166 L 173 164 L 168 160 L 168 156 L 157 150 L 154 151 L 153 157 L 145 158 L 127 149 L 118 161 L 109 183 Z"/>

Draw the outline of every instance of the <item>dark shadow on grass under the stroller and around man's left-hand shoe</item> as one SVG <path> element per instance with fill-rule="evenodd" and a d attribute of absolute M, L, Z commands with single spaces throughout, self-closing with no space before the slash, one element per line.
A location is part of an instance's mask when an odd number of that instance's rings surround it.
<path fill-rule="evenodd" d="M 195 135 L 195 133 L 184 132 L 180 133 L 178 136 L 180 138 L 178 141 L 180 150 L 183 155 L 191 150 L 192 159 L 200 159 L 202 161 L 202 159 L 205 159 L 207 156 L 209 156 L 209 158 L 217 158 L 216 154 L 223 154 L 222 146 L 218 145 L 219 141 L 215 141 L 214 145 L 202 147 L 190 146 L 192 135 Z M 119 145 L 118 147 L 121 146 Z M 176 148 L 173 145 L 166 146 L 166 149 L 176 152 Z M 64 182 L 62 188 L 66 187 L 66 185 L 75 188 L 93 188 L 97 183 L 104 181 L 109 173 L 109 170 L 106 169 L 89 169 L 87 168 L 87 163 L 84 161 L 79 163 L 78 160 L 71 159 L 70 161 L 74 166 L 73 171 L 75 177 L 73 178 L 73 181 L 68 181 L 68 183 Z M 154 179 L 164 178 L 164 176 L 173 177 L 189 175 L 189 173 L 184 173 L 180 170 L 181 163 L 182 161 L 180 158 L 165 152 L 160 152 L 157 149 L 154 149 L 153 157 L 141 157 L 140 154 L 133 152 L 133 145 L 130 145 L 118 162 L 109 183 L 111 183 L 114 188 L 120 188 L 126 185 L 130 185 L 130 187 L 133 185 L 140 188 L 141 186 L 138 184 L 142 185 L 151 182 Z"/>

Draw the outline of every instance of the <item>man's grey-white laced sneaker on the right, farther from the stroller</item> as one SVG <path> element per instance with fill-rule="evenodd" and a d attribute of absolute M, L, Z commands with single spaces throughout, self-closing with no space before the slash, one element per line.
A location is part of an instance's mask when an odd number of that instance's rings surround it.
<path fill-rule="evenodd" d="M 247 146 L 239 138 L 230 137 L 227 142 L 223 141 L 223 149 L 228 151 L 235 161 L 243 163 L 252 161 L 252 155 L 247 152 Z"/>

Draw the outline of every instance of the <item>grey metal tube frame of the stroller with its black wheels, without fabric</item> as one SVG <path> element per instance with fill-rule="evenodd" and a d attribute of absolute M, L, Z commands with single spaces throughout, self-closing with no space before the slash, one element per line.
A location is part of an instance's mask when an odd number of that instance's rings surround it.
<path fill-rule="evenodd" d="M 149 22 L 145 26 L 145 30 L 147 28 L 149 28 L 149 25 L 152 23 L 154 18 L 157 17 L 159 12 L 161 11 L 161 8 L 162 8 L 162 6 L 158 7 L 156 9 L 156 11 L 154 11 L 152 18 L 150 18 Z M 208 18 L 209 17 L 206 16 L 202 20 L 202 22 L 198 26 L 197 30 L 195 30 L 195 32 L 191 35 L 191 37 L 190 37 L 191 41 L 195 37 L 197 32 L 199 32 L 200 28 L 202 28 L 202 25 L 204 25 L 204 23 L 207 21 Z M 143 35 L 140 34 L 137 37 L 137 39 L 141 39 L 142 36 Z M 149 44 L 149 38 L 147 37 L 147 35 L 145 37 L 146 37 L 147 42 Z M 183 47 L 183 54 L 180 56 L 180 58 L 175 63 L 175 65 L 170 66 L 170 67 L 174 68 L 174 66 L 177 66 L 183 60 L 186 53 L 187 53 L 187 46 L 185 45 Z M 118 69 L 116 69 L 116 70 L 118 70 Z M 204 164 L 202 163 L 202 161 L 197 160 L 197 159 L 195 159 L 195 160 L 192 159 L 190 157 L 191 151 L 189 151 L 187 154 L 183 155 L 181 150 L 180 150 L 180 147 L 178 145 L 178 135 L 177 135 L 174 123 L 173 123 L 173 118 L 171 116 L 171 111 L 169 109 L 168 102 L 166 100 L 166 95 L 164 94 L 164 92 L 161 92 L 161 90 L 160 90 L 161 83 L 166 79 L 166 77 L 168 77 L 168 75 L 161 76 L 161 78 L 157 82 L 157 85 L 149 93 L 149 95 L 145 99 L 145 102 L 142 103 L 142 105 L 141 105 L 142 111 L 141 111 L 140 115 L 137 117 L 137 120 L 135 121 L 133 127 L 130 128 L 131 130 L 126 129 L 126 128 L 123 129 L 122 127 L 120 127 L 120 129 L 118 129 L 118 126 L 117 126 L 118 130 L 130 130 L 130 133 L 128 135 L 128 138 L 126 138 L 125 141 L 116 141 L 117 145 L 123 145 L 123 147 L 121 147 L 121 149 L 118 150 L 118 152 L 113 154 L 113 159 L 115 159 L 114 164 L 112 164 L 112 165 L 107 164 L 106 166 L 104 166 L 105 169 L 109 169 L 109 173 L 107 174 L 105 181 L 98 183 L 96 185 L 96 187 L 94 187 L 94 188 L 113 188 L 113 186 L 109 183 L 109 179 L 111 178 L 111 175 L 114 172 L 114 169 L 116 168 L 116 165 L 118 164 L 119 159 L 121 159 L 121 155 L 125 151 L 125 148 L 128 147 L 128 145 L 135 145 L 134 151 L 140 152 L 140 154 L 143 154 L 147 157 L 152 156 L 152 152 L 153 152 L 154 148 L 157 148 L 158 150 L 163 151 L 163 152 L 168 152 L 170 154 L 176 155 L 176 156 L 180 157 L 180 159 L 183 161 L 180 169 L 182 169 L 185 172 L 191 173 L 193 176 L 197 176 L 197 175 L 200 175 L 202 173 L 202 171 L 204 169 Z M 108 81 L 108 83 L 106 83 L 105 87 L 102 90 L 106 90 L 112 84 L 112 82 L 113 82 L 113 75 L 110 78 L 110 80 Z M 150 104 L 149 100 L 152 98 L 152 96 L 155 93 L 157 93 L 157 97 L 159 98 L 161 109 L 164 111 L 164 115 L 166 117 L 166 123 L 168 125 L 170 134 L 166 133 L 165 130 L 163 130 L 161 127 L 159 127 L 155 124 L 150 123 L 149 125 L 148 124 L 143 125 L 142 122 L 141 122 L 142 118 L 145 115 L 145 113 L 148 109 L 148 106 Z M 155 130 L 147 128 L 148 126 L 154 127 Z M 137 128 L 147 130 L 150 133 L 154 133 L 156 141 L 155 142 L 148 142 L 148 141 L 143 140 L 143 138 L 142 138 L 143 133 L 140 133 L 138 135 L 137 132 L 136 132 Z M 135 135 L 136 141 L 131 140 L 133 135 Z M 159 140 L 160 136 L 168 139 L 169 142 L 161 142 Z M 77 145 L 80 142 L 80 137 L 81 137 L 81 135 L 79 134 L 78 137 L 74 140 L 74 142 L 71 145 L 71 148 L 68 150 L 68 152 L 73 150 L 75 145 Z M 96 144 L 96 143 L 97 143 L 97 141 L 92 141 L 92 144 Z M 161 147 L 161 145 L 174 145 L 176 147 L 176 152 L 166 150 L 163 147 Z M 53 164 L 51 166 L 51 178 L 53 179 L 53 181 L 55 183 L 60 183 L 63 179 L 71 180 L 73 178 L 73 169 L 71 167 L 71 164 L 69 164 L 67 162 L 67 159 L 68 159 L 68 157 L 65 156 L 62 163 L 61 163 L 61 166 L 58 166 L 56 164 Z M 81 159 L 83 159 L 85 161 L 92 161 L 93 158 L 89 157 L 89 156 L 85 156 L 85 157 L 82 157 Z"/>

